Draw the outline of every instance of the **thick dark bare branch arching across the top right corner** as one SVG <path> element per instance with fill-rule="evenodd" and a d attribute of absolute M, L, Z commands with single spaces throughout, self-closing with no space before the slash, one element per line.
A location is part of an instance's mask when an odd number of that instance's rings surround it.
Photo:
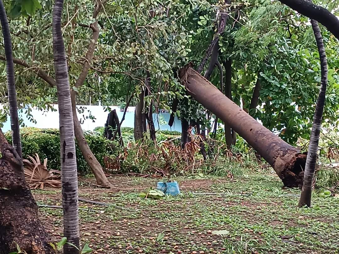
<path fill-rule="evenodd" d="M 318 21 L 339 40 L 339 20 L 327 9 L 308 0 L 279 0 L 298 13 Z"/>

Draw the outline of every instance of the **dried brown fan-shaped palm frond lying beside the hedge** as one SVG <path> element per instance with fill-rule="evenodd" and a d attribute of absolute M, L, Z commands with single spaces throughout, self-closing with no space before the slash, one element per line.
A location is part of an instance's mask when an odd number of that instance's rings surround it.
<path fill-rule="evenodd" d="M 43 189 L 44 186 L 60 188 L 60 171 L 47 170 L 47 158 L 43 164 L 40 162 L 39 155 L 36 153 L 35 158 L 28 156 L 31 161 L 22 160 L 24 163 L 25 180 L 32 189 Z M 55 175 L 53 173 L 57 173 Z"/>

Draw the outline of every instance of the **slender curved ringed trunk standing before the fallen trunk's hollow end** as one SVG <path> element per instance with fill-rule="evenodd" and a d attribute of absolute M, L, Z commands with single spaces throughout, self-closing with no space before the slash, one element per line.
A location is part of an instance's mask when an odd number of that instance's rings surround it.
<path fill-rule="evenodd" d="M 299 207 L 307 205 L 311 206 L 311 194 L 312 194 L 312 184 L 315 174 L 317 154 L 318 154 L 318 144 L 319 144 L 319 135 L 320 127 L 322 122 L 322 113 L 324 111 L 325 105 L 325 95 L 327 87 L 327 59 L 325 54 L 324 42 L 321 36 L 320 28 L 318 22 L 311 20 L 314 36 L 316 38 L 319 56 L 320 56 L 320 66 L 321 66 L 321 86 L 318 97 L 318 102 L 316 110 L 313 116 L 313 125 L 310 138 L 310 145 L 308 146 L 308 153 L 306 158 L 305 172 L 304 172 L 304 182 L 301 189 L 301 196 L 299 200 Z"/>

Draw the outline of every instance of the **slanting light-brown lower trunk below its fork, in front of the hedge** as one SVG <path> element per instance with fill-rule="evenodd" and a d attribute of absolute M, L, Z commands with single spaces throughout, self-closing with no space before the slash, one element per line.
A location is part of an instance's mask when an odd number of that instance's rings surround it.
<path fill-rule="evenodd" d="M 88 166 L 92 169 L 92 172 L 95 176 L 98 185 L 105 186 L 107 188 L 112 188 L 112 184 L 108 181 L 101 164 L 98 162 L 97 158 L 91 151 L 88 146 L 88 143 L 85 139 L 85 135 L 82 131 L 80 121 L 77 115 L 77 104 L 76 104 L 76 92 L 71 90 L 71 102 L 72 102 L 72 114 L 73 114 L 73 125 L 75 138 L 77 140 L 78 146 L 81 150 L 82 156 L 85 158 Z"/>

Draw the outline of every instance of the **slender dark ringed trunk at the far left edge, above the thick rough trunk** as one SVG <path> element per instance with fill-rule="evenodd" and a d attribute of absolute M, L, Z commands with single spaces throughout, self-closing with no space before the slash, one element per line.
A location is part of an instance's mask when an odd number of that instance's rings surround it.
<path fill-rule="evenodd" d="M 12 143 L 13 147 L 17 150 L 19 156 L 22 157 L 20 131 L 19 131 L 18 102 L 14 80 L 14 63 L 12 55 L 11 31 L 9 30 L 6 11 L 3 6 L 2 0 L 0 0 L 0 20 L 6 56 L 7 91 L 9 101 L 9 115 L 11 117 Z"/>

